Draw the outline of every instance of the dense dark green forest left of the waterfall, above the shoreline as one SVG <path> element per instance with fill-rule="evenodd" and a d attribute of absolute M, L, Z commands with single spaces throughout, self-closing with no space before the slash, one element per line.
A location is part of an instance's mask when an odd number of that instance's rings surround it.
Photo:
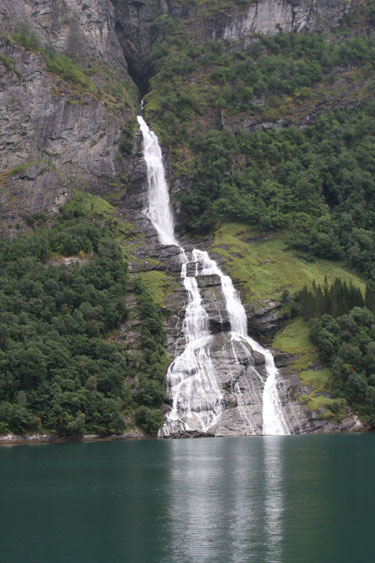
<path fill-rule="evenodd" d="M 86 258 L 46 263 L 55 255 Z M 126 318 L 126 287 L 126 264 L 112 233 L 87 219 L 76 202 L 53 228 L 0 242 L 3 432 L 123 430 L 122 411 L 132 403 L 124 382 L 133 372 L 123 347 L 106 339 Z"/>

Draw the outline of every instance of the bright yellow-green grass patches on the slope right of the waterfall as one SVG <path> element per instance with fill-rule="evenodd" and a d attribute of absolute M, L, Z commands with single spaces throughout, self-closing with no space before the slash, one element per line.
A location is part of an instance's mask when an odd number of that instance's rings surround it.
<path fill-rule="evenodd" d="M 307 261 L 288 249 L 289 237 L 290 233 L 285 232 L 260 237 L 253 228 L 237 223 L 223 225 L 215 232 L 212 251 L 225 257 L 225 268 L 239 282 L 244 303 L 256 308 L 260 302 L 280 302 L 285 290 L 294 296 L 305 285 L 331 284 L 336 278 L 352 283 L 364 295 L 363 280 L 348 271 L 343 262 Z M 332 398 L 335 378 L 330 368 L 321 368 L 319 348 L 311 339 L 309 323 L 299 316 L 289 320 L 277 333 L 272 348 L 293 356 L 289 369 L 300 377 L 302 385 L 311 386 L 309 394 L 299 400 L 325 418 L 342 418 L 346 400 L 342 393 Z"/>

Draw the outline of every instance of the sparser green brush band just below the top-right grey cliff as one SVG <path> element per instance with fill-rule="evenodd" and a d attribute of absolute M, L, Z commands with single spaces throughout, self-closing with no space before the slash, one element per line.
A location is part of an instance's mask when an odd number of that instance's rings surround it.
<path fill-rule="evenodd" d="M 156 74 L 146 97 L 147 112 L 163 139 L 183 142 L 193 119 L 212 111 L 227 116 L 266 115 L 272 97 L 309 98 L 310 87 L 336 80 L 337 68 L 355 66 L 374 74 L 371 35 L 335 36 L 280 33 L 260 36 L 244 50 L 221 39 L 197 42 L 168 16 L 156 20 L 158 41 L 151 53 Z M 276 106 L 277 107 L 277 104 Z"/>

